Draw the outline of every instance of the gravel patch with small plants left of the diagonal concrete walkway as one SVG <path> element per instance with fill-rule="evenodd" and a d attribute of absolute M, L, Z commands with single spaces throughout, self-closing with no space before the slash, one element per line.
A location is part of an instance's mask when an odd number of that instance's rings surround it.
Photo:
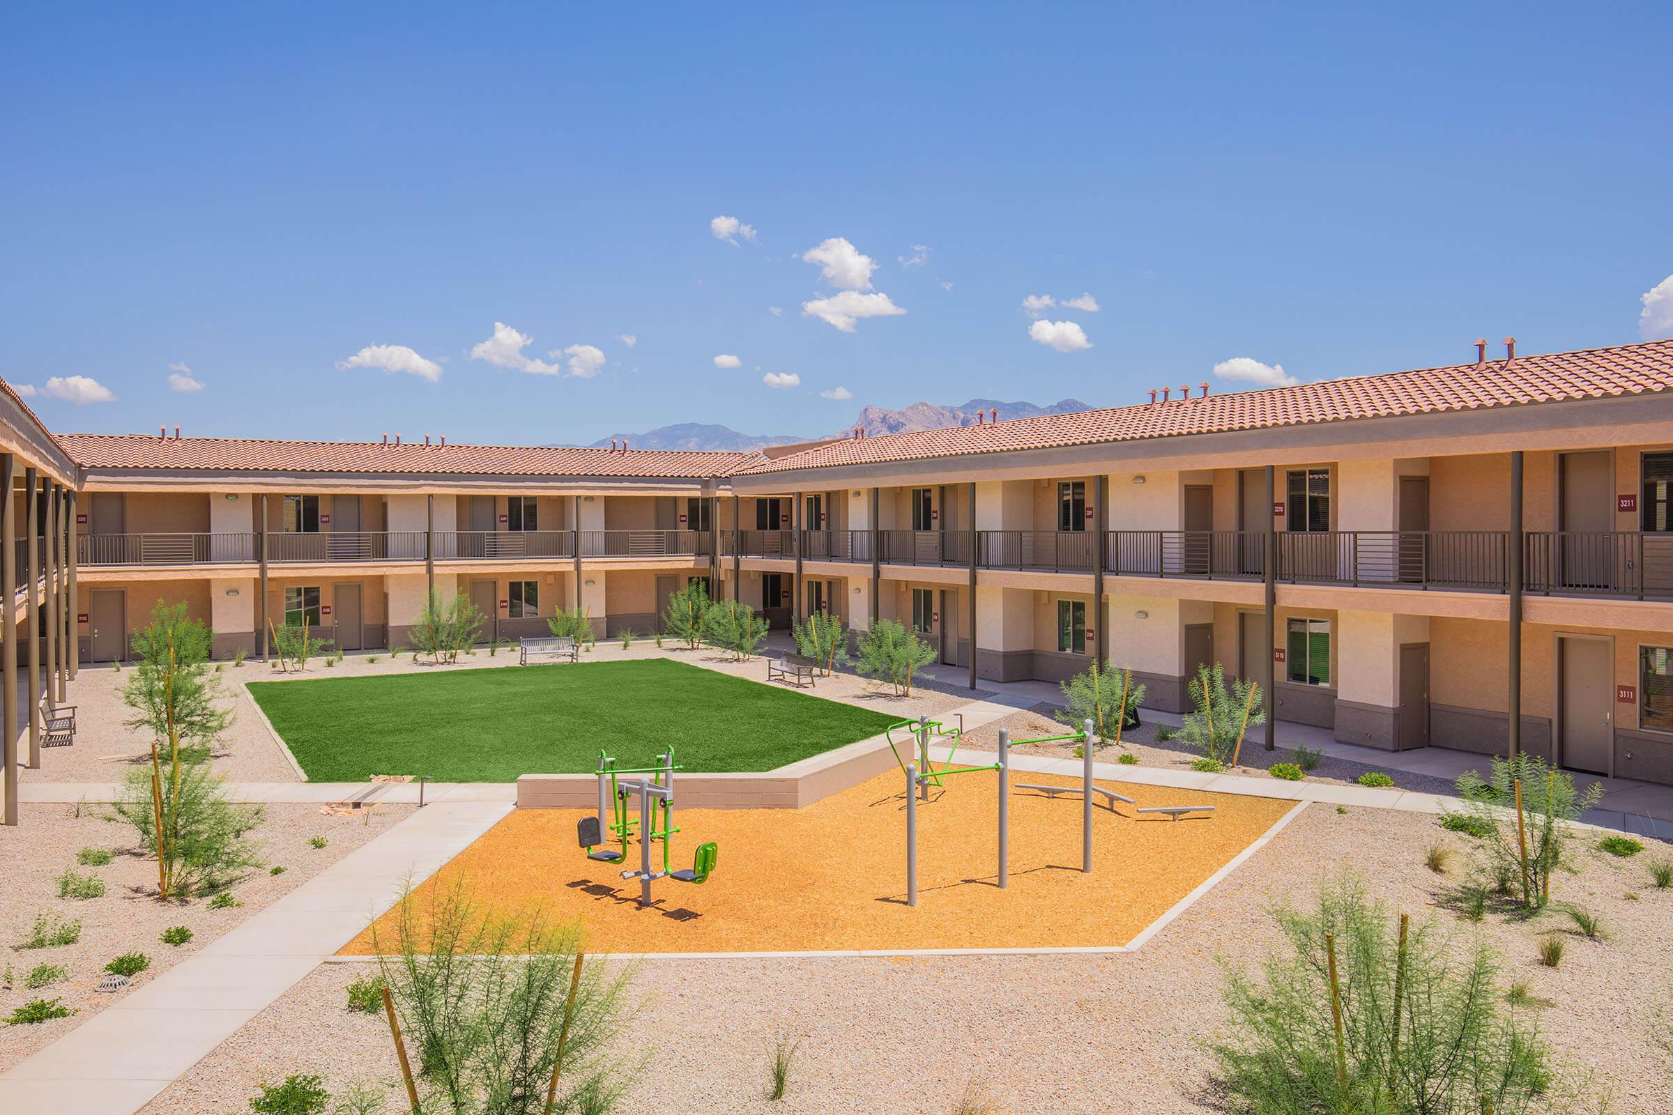
<path fill-rule="evenodd" d="M 204 898 L 157 903 L 157 863 L 141 858 L 132 827 L 104 819 L 104 806 L 33 806 L 18 827 L 0 829 L 0 879 L 5 879 L 5 901 L 0 903 L 0 970 L 10 966 L 12 971 L 12 986 L 0 988 L 0 1015 L 8 1016 L 35 998 L 62 998 L 65 1006 L 77 1010 L 70 1018 L 0 1026 L 0 1070 L 125 995 L 94 991 L 112 956 L 129 951 L 151 956 L 151 968 L 134 978 L 134 986 L 139 986 L 385 832 L 413 807 L 380 806 L 371 811 L 370 821 L 366 814 L 325 816 L 320 806 L 281 804 L 264 809 L 264 819 L 251 838 L 259 844 L 266 866 L 229 888 L 243 906 L 228 909 L 209 909 Z M 311 848 L 311 836 L 325 836 L 326 846 Z M 104 866 L 82 866 L 75 861 L 82 848 L 110 849 L 115 858 Z M 268 868 L 273 866 L 284 866 L 284 873 L 269 874 Z M 59 876 L 67 868 L 102 879 L 104 896 L 85 901 L 59 898 Z M 17 948 L 30 934 L 38 913 L 60 921 L 80 919 L 80 939 L 59 948 Z M 162 929 L 181 924 L 194 933 L 189 943 L 171 946 L 157 939 Z M 65 966 L 69 976 L 45 988 L 25 988 L 23 980 L 37 965 Z"/>

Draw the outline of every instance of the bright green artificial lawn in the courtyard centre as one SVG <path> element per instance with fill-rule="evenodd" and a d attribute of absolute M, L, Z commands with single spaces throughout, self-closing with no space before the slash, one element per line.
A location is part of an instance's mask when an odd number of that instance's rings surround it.
<path fill-rule="evenodd" d="M 514 782 L 596 771 L 601 747 L 651 766 L 669 744 L 686 771 L 771 771 L 895 719 L 668 659 L 251 682 L 249 694 L 316 782 Z"/>

